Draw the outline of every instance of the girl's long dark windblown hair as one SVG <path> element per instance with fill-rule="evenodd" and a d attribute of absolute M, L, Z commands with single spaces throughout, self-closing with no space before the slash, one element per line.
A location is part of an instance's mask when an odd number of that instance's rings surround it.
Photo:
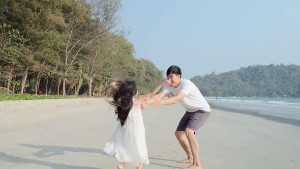
<path fill-rule="evenodd" d="M 133 106 L 133 96 L 137 93 L 135 81 L 114 81 L 110 83 L 110 86 L 106 88 L 109 91 L 113 100 L 108 101 L 109 104 L 115 106 L 115 114 L 117 114 L 117 120 L 121 122 L 123 126 L 129 111 Z"/>

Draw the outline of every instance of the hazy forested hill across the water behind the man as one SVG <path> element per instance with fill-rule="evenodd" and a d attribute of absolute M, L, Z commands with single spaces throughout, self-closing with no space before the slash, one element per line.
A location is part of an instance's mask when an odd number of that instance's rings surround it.
<path fill-rule="evenodd" d="M 195 76 L 191 81 L 204 96 L 300 97 L 300 66 L 249 66 L 222 74 Z"/>

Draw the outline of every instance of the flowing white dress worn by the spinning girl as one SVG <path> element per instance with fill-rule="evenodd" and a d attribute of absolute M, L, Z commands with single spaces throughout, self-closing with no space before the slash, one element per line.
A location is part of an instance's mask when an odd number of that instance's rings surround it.
<path fill-rule="evenodd" d="M 121 126 L 121 123 L 117 124 L 103 150 L 110 156 L 114 155 L 118 162 L 134 165 L 149 164 L 145 127 L 140 108 L 132 106 L 124 126 Z"/>

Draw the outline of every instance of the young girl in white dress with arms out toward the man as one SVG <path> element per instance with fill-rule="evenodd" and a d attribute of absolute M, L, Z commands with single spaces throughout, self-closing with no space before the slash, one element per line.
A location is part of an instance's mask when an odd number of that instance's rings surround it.
<path fill-rule="evenodd" d="M 145 127 L 141 113 L 141 104 L 149 97 L 153 97 L 161 87 L 166 85 L 164 81 L 152 92 L 137 97 L 138 92 L 134 81 L 115 81 L 111 83 L 113 100 L 109 103 L 115 106 L 117 124 L 114 133 L 104 147 L 104 151 L 110 156 L 115 156 L 119 162 L 117 168 L 124 168 L 125 163 L 133 163 L 137 169 L 141 169 L 143 163 L 149 164 Z"/>

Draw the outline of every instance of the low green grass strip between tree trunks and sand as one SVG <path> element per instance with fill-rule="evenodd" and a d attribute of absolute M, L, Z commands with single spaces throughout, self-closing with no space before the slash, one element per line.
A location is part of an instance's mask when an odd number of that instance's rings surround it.
<path fill-rule="evenodd" d="M 5 100 L 39 100 L 39 99 L 71 99 L 78 98 L 76 96 L 57 96 L 57 95 L 32 95 L 32 94 L 11 94 L 11 95 L 1 95 L 0 101 Z"/>

